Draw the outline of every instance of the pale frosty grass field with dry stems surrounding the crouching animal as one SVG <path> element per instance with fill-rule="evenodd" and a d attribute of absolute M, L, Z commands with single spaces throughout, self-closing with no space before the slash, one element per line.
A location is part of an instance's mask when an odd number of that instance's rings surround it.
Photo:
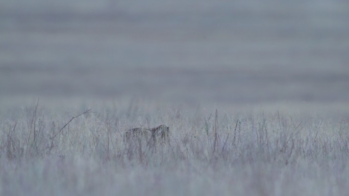
<path fill-rule="evenodd" d="M 87 109 L 55 113 L 39 105 L 2 114 L 0 195 L 349 192 L 345 120 L 98 109 L 79 116 Z M 160 124 L 170 127 L 169 142 L 123 141 L 129 128 Z"/>

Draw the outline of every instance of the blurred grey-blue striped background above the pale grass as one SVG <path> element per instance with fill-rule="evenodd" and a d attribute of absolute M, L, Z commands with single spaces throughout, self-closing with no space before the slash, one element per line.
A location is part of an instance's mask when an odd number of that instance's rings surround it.
<path fill-rule="evenodd" d="M 2 107 L 111 100 L 348 117 L 348 62 L 348 1 L 0 1 Z"/>

